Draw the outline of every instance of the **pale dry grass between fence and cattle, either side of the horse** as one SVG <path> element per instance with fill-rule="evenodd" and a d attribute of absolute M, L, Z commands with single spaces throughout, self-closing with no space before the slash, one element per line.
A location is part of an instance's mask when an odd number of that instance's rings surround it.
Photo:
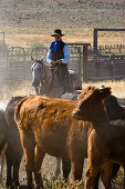
<path fill-rule="evenodd" d="M 119 81 L 88 81 L 88 82 L 83 82 L 83 88 L 86 86 L 96 86 L 96 87 L 102 87 L 102 86 L 108 86 L 112 88 L 112 93 L 116 96 L 121 102 L 123 99 L 123 102 L 125 101 L 125 79 L 119 80 Z M 0 90 L 0 101 L 8 103 L 11 97 L 14 96 L 28 96 L 34 93 L 34 88 L 31 84 L 31 81 L 21 81 L 21 82 L 9 82 L 6 86 L 2 83 L 1 90 Z M 125 103 L 125 102 L 124 102 Z"/>

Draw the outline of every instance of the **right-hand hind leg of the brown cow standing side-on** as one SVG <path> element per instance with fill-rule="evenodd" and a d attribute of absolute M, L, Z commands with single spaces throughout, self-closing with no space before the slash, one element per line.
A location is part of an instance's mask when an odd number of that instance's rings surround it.
<path fill-rule="evenodd" d="M 40 170 L 41 170 L 42 161 L 44 159 L 44 155 L 45 155 L 45 152 L 39 146 L 35 146 L 34 178 L 35 178 L 35 182 L 37 182 L 37 189 L 43 188 L 43 182 L 42 182 L 41 171 Z"/>

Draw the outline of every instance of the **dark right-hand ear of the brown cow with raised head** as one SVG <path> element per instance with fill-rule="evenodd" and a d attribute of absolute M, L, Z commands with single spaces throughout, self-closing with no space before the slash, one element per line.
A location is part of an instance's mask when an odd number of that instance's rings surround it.
<path fill-rule="evenodd" d="M 101 88 L 98 89 L 98 92 L 100 92 L 100 97 L 102 99 L 106 99 L 111 96 L 111 87 L 105 87 L 105 88 Z"/>

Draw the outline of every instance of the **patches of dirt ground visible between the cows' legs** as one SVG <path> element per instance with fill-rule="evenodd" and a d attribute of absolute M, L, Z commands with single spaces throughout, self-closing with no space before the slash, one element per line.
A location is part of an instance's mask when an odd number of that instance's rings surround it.
<path fill-rule="evenodd" d="M 83 178 L 85 175 L 85 170 L 86 170 L 86 161 L 87 159 L 85 159 L 84 161 L 84 168 L 83 168 Z M 62 163 L 61 163 L 62 166 Z M 49 155 L 45 155 L 45 158 L 43 160 L 43 165 L 41 168 L 41 173 L 42 173 L 42 178 L 44 182 L 50 182 L 50 180 L 53 178 L 54 176 L 54 170 L 55 170 L 55 158 L 51 157 Z M 121 173 L 122 172 L 122 173 Z M 25 169 L 24 169 L 24 159 L 22 159 L 21 166 L 20 166 L 20 189 L 25 189 L 27 188 L 27 175 L 25 175 Z M 70 173 L 70 179 L 72 178 L 72 172 Z M 61 175 L 59 176 L 59 179 L 62 179 L 62 169 L 61 169 Z M 115 180 L 116 183 L 113 183 L 113 189 L 122 189 L 123 187 L 123 170 L 121 169 L 118 172 L 118 177 Z M 3 170 L 3 183 L 0 185 L 0 189 L 4 189 L 6 188 L 6 166 L 4 166 L 4 170 Z M 100 180 L 100 189 L 105 189 L 103 182 Z M 49 187 L 48 189 L 59 189 L 59 187 L 56 188 L 51 188 Z M 61 188 L 60 188 L 61 189 Z M 63 187 L 63 189 L 70 189 L 70 187 L 65 188 Z M 82 189 L 82 187 L 75 188 L 75 189 Z"/>

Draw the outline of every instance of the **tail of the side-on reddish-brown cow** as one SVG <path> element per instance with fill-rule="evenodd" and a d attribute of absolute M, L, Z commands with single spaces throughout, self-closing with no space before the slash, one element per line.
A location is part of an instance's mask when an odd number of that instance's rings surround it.
<path fill-rule="evenodd" d="M 20 109 L 21 109 L 21 106 L 22 103 L 28 99 L 28 97 L 24 97 L 22 98 L 18 105 L 15 106 L 15 109 L 14 109 L 14 121 L 17 123 L 17 126 L 21 125 L 21 117 L 20 117 Z"/>

